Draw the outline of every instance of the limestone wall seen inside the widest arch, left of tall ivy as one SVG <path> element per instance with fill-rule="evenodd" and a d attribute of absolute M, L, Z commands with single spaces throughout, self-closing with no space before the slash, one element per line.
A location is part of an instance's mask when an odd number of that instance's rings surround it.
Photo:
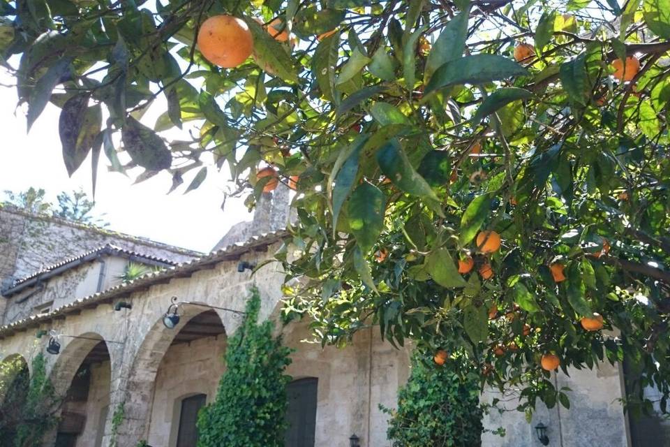
<path fill-rule="evenodd" d="M 156 388 L 149 421 L 149 445 L 174 447 L 177 444 L 181 400 L 206 394 L 214 400 L 225 371 L 223 355 L 226 337 L 207 337 L 170 346 L 156 374 Z"/>

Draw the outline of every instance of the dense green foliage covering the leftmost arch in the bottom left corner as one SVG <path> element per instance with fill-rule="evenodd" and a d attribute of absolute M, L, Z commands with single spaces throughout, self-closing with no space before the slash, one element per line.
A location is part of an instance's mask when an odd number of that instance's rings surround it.
<path fill-rule="evenodd" d="M 61 403 L 47 377 L 43 353 L 33 358 L 30 376 L 22 358 L 3 362 L 0 391 L 0 446 L 41 447 Z"/>

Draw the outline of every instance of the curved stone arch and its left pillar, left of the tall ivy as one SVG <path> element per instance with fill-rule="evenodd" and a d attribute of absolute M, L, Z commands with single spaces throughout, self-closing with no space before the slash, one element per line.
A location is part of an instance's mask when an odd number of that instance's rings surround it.
<path fill-rule="evenodd" d="M 124 418 L 124 422 L 119 428 L 119 435 L 117 437 L 119 445 L 132 445 L 139 439 L 147 439 L 149 437 L 151 416 L 154 410 L 156 377 L 158 376 L 158 371 L 165 354 L 168 353 L 170 346 L 180 342 L 180 337 L 184 335 L 183 330 L 188 328 L 189 324 L 197 321 L 201 316 L 209 315 L 216 316 L 214 318 L 216 318 L 221 327 L 219 334 L 223 335 L 223 337 L 226 336 L 226 326 L 224 323 L 226 320 L 223 314 L 228 312 L 211 309 L 207 303 L 201 301 L 190 303 L 179 305 L 179 324 L 173 329 L 166 328 L 163 325 L 163 314 L 161 314 L 154 321 L 153 325 L 151 325 L 151 328 L 147 331 L 147 335 L 144 336 L 142 343 L 137 348 L 137 351 L 135 351 L 135 356 L 128 373 L 124 396 L 126 418 Z M 216 334 L 212 333 L 211 335 Z M 209 337 L 209 335 L 202 335 L 202 337 Z M 197 393 L 200 391 L 191 390 L 189 392 Z M 174 393 L 179 394 L 181 391 L 175 388 Z M 170 399 L 174 400 L 176 396 L 170 396 Z M 172 414 L 172 411 L 170 411 L 170 414 Z M 151 441 L 149 444 L 151 444 Z"/>

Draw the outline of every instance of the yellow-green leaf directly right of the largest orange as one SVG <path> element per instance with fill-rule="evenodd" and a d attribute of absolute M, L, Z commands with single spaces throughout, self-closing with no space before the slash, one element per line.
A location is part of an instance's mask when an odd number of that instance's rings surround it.
<path fill-rule="evenodd" d="M 253 36 L 253 57 L 256 64 L 271 75 L 287 82 L 298 82 L 293 60 L 279 41 L 273 38 L 263 27 L 250 17 L 245 22 Z"/>

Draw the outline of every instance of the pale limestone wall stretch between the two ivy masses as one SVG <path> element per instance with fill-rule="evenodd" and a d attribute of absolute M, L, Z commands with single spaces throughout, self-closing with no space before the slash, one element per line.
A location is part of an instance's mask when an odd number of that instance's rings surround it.
<path fill-rule="evenodd" d="M 322 349 L 306 323 L 292 323 L 283 332 L 284 343 L 295 349 L 287 373 L 319 379 L 315 445 L 348 447 L 355 433 L 362 446 L 390 446 L 388 417 L 379 404 L 396 406 L 398 388 L 409 376 L 409 351 L 383 342 L 378 328 L 359 332 L 342 349 Z"/>

